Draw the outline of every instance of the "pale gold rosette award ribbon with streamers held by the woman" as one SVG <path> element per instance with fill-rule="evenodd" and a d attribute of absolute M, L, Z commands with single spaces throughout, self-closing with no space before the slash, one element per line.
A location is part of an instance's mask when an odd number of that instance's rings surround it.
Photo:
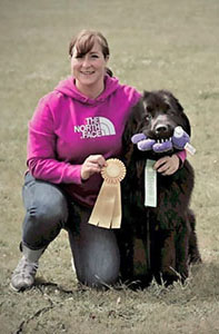
<path fill-rule="evenodd" d="M 126 167 L 119 159 L 108 159 L 107 166 L 101 170 L 101 176 L 103 183 L 92 209 L 89 224 L 104 228 L 120 228 L 120 181 L 126 176 Z"/>

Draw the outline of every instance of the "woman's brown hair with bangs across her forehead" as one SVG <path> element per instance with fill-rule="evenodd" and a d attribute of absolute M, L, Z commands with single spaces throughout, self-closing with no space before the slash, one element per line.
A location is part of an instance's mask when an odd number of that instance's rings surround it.
<path fill-rule="evenodd" d="M 72 56 L 72 49 L 76 47 L 77 49 L 77 56 L 83 56 L 88 53 L 96 40 L 98 40 L 99 45 L 102 48 L 103 57 L 107 58 L 110 53 L 109 46 L 107 42 L 107 39 L 102 36 L 99 31 L 93 30 L 82 30 L 79 32 L 69 45 L 69 55 Z"/>

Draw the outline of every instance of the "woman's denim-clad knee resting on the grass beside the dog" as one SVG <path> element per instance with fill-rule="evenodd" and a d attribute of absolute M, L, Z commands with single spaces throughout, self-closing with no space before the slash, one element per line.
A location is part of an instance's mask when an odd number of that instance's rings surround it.
<path fill-rule="evenodd" d="M 113 230 L 88 224 L 81 215 L 80 233 L 69 229 L 69 240 L 79 282 L 88 286 L 113 285 L 119 277 L 120 253 Z"/>

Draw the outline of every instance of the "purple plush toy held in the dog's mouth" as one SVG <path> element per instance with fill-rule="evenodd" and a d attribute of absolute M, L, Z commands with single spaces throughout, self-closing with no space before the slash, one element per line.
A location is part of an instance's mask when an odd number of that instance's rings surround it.
<path fill-rule="evenodd" d="M 143 134 L 136 134 L 131 137 L 131 141 L 137 144 L 139 150 L 165 153 L 176 148 L 187 149 L 190 154 L 195 154 L 196 151 L 195 148 L 189 145 L 189 135 L 180 126 L 175 128 L 173 136 L 170 139 L 155 140 L 147 138 Z"/>

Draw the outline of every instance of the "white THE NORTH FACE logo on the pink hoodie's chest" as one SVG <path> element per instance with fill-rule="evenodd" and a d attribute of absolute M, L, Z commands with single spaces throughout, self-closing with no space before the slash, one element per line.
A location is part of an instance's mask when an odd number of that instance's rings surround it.
<path fill-rule="evenodd" d="M 81 132 L 82 139 L 116 135 L 113 124 L 106 117 L 88 117 L 84 125 L 74 126 L 74 132 Z"/>

